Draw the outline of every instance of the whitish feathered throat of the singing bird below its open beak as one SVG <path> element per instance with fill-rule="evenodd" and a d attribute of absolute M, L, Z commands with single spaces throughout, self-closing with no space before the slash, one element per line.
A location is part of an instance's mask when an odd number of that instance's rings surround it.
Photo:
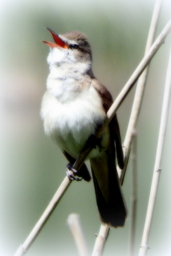
<path fill-rule="evenodd" d="M 79 55 L 66 49 L 51 49 L 47 62 L 50 74 L 47 78 L 47 90 L 59 101 L 73 100 L 84 88 L 88 89 L 91 77 L 86 75 L 91 62 L 82 60 Z"/>

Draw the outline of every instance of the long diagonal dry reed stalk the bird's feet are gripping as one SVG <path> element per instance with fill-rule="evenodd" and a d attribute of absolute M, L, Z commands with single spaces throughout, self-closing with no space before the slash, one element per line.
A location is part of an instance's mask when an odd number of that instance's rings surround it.
<path fill-rule="evenodd" d="M 129 91 L 131 91 L 132 87 L 134 86 L 135 82 L 139 78 L 139 76 L 142 74 L 143 70 L 148 66 L 149 62 L 153 58 L 153 56 L 157 53 L 162 43 L 165 41 L 165 38 L 167 37 L 169 31 L 171 30 L 171 20 L 167 23 L 165 28 L 162 30 L 159 37 L 156 39 L 154 44 L 151 46 L 148 53 L 145 55 L 145 57 L 140 62 L 139 66 L 135 69 L 132 76 L 129 78 L 128 82 L 124 86 L 123 90 L 119 93 L 116 100 L 113 102 L 111 108 L 109 109 L 107 113 L 107 119 L 104 122 L 103 126 L 99 130 L 99 132 L 96 134 L 97 138 L 101 136 L 103 129 L 107 127 L 113 116 L 116 114 L 117 109 L 121 105 L 121 103 L 126 98 Z M 77 161 L 73 165 L 74 169 L 79 170 L 80 166 L 82 166 L 83 162 L 85 161 L 86 156 L 88 155 L 91 148 L 86 148 L 82 154 L 78 157 Z M 66 177 L 60 188 L 56 191 L 54 197 L 52 198 L 50 204 L 47 206 L 45 212 L 42 214 L 42 217 L 38 220 L 35 227 L 32 229 L 31 233 L 27 237 L 26 241 L 19 247 L 17 252 L 14 254 L 14 256 L 23 256 L 28 251 L 31 244 L 35 241 L 36 237 L 44 227 L 45 223 L 47 222 L 48 218 L 50 218 L 52 212 L 54 211 L 56 205 L 58 205 L 60 199 L 64 195 L 65 191 L 68 189 L 71 181 Z"/>

